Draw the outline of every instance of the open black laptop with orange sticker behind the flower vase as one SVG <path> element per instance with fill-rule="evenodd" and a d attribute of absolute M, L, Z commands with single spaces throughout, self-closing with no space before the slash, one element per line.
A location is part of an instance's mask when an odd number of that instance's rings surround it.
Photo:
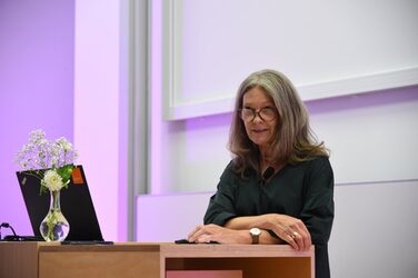
<path fill-rule="evenodd" d="M 18 180 L 23 195 L 30 224 L 36 238 L 40 238 L 39 226 L 47 216 L 50 206 L 50 193 L 40 192 L 40 179 L 29 175 L 30 171 L 18 171 Z M 61 211 L 70 224 L 68 242 L 104 241 L 97 219 L 93 202 L 82 166 L 77 166 L 68 188 L 60 193 Z"/>

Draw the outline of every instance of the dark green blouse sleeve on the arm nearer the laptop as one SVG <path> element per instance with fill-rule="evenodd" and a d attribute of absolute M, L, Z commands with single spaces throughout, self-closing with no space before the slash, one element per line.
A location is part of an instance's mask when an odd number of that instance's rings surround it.
<path fill-rule="evenodd" d="M 229 219 L 237 216 L 235 209 L 235 186 L 232 165 L 229 163 L 220 177 L 216 193 L 210 198 L 203 222 L 223 226 Z"/>

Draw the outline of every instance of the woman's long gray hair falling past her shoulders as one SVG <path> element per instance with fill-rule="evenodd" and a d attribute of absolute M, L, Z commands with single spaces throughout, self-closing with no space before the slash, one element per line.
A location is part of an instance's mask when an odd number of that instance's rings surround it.
<path fill-rule="evenodd" d="M 281 72 L 261 70 L 242 81 L 236 97 L 228 145 L 238 172 L 243 176 L 247 169 L 260 171 L 259 149 L 249 139 L 240 116 L 243 95 L 255 87 L 271 98 L 278 112 L 277 133 L 270 147 L 272 163 L 296 165 L 316 156 L 329 156 L 311 131 L 307 109 L 290 80 Z"/>

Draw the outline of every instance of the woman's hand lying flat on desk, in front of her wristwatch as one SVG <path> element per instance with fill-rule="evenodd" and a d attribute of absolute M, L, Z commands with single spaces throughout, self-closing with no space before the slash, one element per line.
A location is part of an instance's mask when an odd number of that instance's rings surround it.
<path fill-rule="evenodd" d="M 199 225 L 187 237 L 189 242 L 205 244 L 216 241 L 219 244 L 242 245 L 250 244 L 251 237 L 247 230 L 232 230 L 215 224 Z"/>

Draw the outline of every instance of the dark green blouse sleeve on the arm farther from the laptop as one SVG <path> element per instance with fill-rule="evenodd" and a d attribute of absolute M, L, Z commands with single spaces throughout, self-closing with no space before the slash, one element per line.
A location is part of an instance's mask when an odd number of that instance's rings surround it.
<path fill-rule="evenodd" d="M 334 172 L 328 158 L 311 161 L 303 190 L 301 220 L 314 245 L 327 245 L 334 221 Z"/>

